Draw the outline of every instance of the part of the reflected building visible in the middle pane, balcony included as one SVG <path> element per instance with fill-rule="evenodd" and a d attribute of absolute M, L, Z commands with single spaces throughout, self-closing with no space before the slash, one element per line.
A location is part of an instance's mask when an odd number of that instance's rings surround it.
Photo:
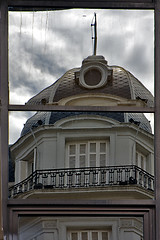
<path fill-rule="evenodd" d="M 153 198 L 154 136 L 143 113 L 37 112 L 10 153 L 10 198 Z"/>

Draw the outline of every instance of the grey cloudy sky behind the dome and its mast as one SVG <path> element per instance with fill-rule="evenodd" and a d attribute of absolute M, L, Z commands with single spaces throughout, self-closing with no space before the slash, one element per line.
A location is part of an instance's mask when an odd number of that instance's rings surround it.
<path fill-rule="evenodd" d="M 63 10 L 9 13 L 10 103 L 25 104 L 93 53 L 91 22 L 97 14 L 97 54 L 132 72 L 152 93 L 154 13 L 137 10 Z M 10 114 L 10 143 L 33 113 Z"/>

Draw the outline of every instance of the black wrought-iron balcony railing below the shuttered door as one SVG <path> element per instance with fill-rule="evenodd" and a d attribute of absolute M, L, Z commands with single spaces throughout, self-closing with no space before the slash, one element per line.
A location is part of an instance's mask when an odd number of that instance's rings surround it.
<path fill-rule="evenodd" d="M 22 182 L 9 188 L 9 198 L 35 189 L 69 189 L 137 185 L 154 190 L 154 177 L 135 166 L 65 168 L 36 170 Z"/>

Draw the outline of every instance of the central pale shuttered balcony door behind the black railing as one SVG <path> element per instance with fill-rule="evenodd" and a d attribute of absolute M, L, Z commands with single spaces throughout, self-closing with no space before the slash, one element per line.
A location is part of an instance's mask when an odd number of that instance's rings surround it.
<path fill-rule="evenodd" d="M 67 167 L 102 167 L 107 165 L 109 142 L 106 140 L 67 143 Z"/>

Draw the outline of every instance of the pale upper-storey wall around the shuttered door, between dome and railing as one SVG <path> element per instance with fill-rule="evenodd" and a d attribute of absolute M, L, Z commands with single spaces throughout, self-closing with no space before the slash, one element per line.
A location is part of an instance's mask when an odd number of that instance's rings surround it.
<path fill-rule="evenodd" d="M 29 164 L 36 169 L 60 169 L 69 167 L 66 161 L 67 143 L 83 141 L 108 141 L 108 166 L 136 164 L 136 151 L 146 156 L 147 171 L 153 174 L 153 136 L 127 124 L 111 123 L 105 118 L 91 121 L 67 119 L 57 126 L 41 127 L 35 130 L 36 141 L 28 136 L 19 144 L 15 159 L 16 183 L 28 176 Z M 31 168 L 31 167 L 30 167 Z"/>

